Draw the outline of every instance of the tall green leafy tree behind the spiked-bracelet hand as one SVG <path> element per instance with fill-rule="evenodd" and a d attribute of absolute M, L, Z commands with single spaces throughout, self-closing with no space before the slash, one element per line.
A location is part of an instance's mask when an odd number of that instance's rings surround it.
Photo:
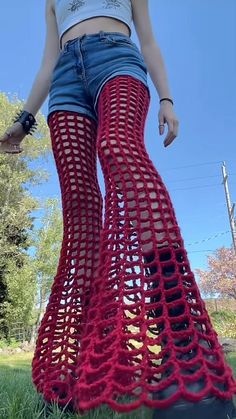
<path fill-rule="evenodd" d="M 16 96 L 10 101 L 0 92 L 0 133 L 11 126 L 23 105 Z M 45 117 L 39 113 L 37 121 L 37 131 L 23 141 L 23 153 L 0 154 L 0 337 L 7 336 L 9 321 L 21 307 L 22 296 L 19 297 L 17 288 L 22 286 L 22 275 L 26 275 L 26 283 L 32 280 L 26 252 L 32 244 L 35 218 L 31 213 L 41 203 L 28 192 L 28 186 L 42 184 L 49 174 L 40 167 L 30 168 L 29 163 L 38 158 L 46 159 L 51 152 Z M 18 307 L 15 314 L 13 307 Z M 28 318 L 23 312 L 20 316 Z"/>

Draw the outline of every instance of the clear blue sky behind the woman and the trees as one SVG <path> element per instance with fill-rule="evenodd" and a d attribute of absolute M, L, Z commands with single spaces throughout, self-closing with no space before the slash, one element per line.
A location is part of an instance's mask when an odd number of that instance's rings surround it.
<path fill-rule="evenodd" d="M 41 62 L 45 38 L 44 1 L 1 3 L 0 90 L 26 99 Z M 163 147 L 158 134 L 159 98 L 150 77 L 151 104 L 146 148 L 170 193 L 192 269 L 232 243 L 222 185 L 226 162 L 236 200 L 236 2 L 235 0 L 149 0 L 153 32 L 165 61 L 179 135 Z M 133 28 L 132 39 L 139 44 Z M 42 107 L 47 115 L 47 101 Z M 166 134 L 167 130 L 165 131 Z M 53 158 L 37 196 L 60 197 Z M 99 182 L 104 181 L 98 164 Z M 36 216 L 40 221 L 42 213 Z"/>

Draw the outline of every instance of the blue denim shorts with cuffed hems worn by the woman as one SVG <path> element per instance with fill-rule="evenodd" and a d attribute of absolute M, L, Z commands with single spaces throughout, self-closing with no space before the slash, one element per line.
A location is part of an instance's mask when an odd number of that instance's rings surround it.
<path fill-rule="evenodd" d="M 84 34 L 65 43 L 54 67 L 48 116 L 56 110 L 79 112 L 97 122 L 98 97 L 117 75 L 130 75 L 147 84 L 147 66 L 137 45 L 121 32 Z"/>

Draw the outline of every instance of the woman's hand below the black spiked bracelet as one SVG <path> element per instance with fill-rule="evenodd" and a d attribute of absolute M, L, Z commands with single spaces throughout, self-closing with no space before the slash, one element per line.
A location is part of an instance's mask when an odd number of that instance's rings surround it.
<path fill-rule="evenodd" d="M 23 149 L 20 143 L 26 136 L 25 131 L 20 122 L 15 122 L 0 137 L 0 153 L 19 154 Z"/>

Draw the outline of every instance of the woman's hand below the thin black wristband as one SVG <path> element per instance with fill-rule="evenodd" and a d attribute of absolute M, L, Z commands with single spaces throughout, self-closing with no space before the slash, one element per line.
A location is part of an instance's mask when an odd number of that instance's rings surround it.
<path fill-rule="evenodd" d="M 173 111 L 173 105 L 169 101 L 161 102 L 160 110 L 158 113 L 159 119 L 159 133 L 160 135 L 164 134 L 165 126 L 164 124 L 167 123 L 168 125 L 168 133 L 164 140 L 164 146 L 167 147 L 174 141 L 174 139 L 178 135 L 178 127 L 179 121 L 176 118 L 176 115 Z"/>

